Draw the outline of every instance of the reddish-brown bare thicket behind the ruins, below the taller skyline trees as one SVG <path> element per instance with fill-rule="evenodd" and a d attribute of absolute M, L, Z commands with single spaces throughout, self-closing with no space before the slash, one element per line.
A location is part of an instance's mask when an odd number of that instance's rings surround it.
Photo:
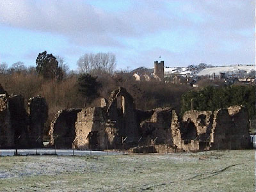
<path fill-rule="evenodd" d="M 80 78 L 80 81 L 79 81 Z M 179 111 L 180 98 L 183 93 L 189 90 L 188 86 L 176 86 L 174 84 L 164 84 L 157 81 L 138 82 L 134 81 L 132 76 L 125 73 L 104 74 L 94 77 L 97 84 L 97 97 L 108 98 L 113 90 L 118 86 L 124 86 L 132 97 L 136 108 L 142 110 L 154 109 L 157 107 L 176 108 Z M 41 95 L 49 105 L 49 119 L 45 125 L 45 135 L 49 131 L 52 118 L 60 109 L 83 108 L 84 106 L 93 106 L 95 92 L 84 94 L 86 86 L 81 86 L 81 75 L 68 75 L 65 79 L 45 79 L 35 73 L 12 73 L 1 74 L 0 83 L 8 93 L 21 94 L 25 98 L 25 104 L 30 97 Z M 92 86 L 92 84 L 87 85 Z M 86 91 L 85 91 L 86 92 Z M 90 95 L 90 93 L 92 93 Z M 94 95 L 94 96 L 93 96 Z"/>

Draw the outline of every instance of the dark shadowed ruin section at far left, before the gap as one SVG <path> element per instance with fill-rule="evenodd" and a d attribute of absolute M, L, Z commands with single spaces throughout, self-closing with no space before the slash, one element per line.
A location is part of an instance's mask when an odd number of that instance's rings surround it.
<path fill-rule="evenodd" d="M 29 100 L 27 113 L 24 97 L 8 95 L 0 84 L 0 148 L 42 147 L 47 113 L 47 104 L 42 97 Z"/>

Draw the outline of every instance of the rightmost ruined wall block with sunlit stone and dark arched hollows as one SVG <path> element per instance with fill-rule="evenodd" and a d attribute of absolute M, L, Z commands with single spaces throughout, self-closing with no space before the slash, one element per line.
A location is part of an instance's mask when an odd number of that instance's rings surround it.
<path fill-rule="evenodd" d="M 242 106 L 211 111 L 187 111 L 172 119 L 173 145 L 179 149 L 218 150 L 250 147 L 248 115 Z"/>

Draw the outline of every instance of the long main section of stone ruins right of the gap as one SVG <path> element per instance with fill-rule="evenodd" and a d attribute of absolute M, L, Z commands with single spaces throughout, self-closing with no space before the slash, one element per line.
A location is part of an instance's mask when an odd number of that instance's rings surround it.
<path fill-rule="evenodd" d="M 51 145 L 92 150 L 154 145 L 159 152 L 250 147 L 243 106 L 186 111 L 179 118 L 172 108 L 137 110 L 125 88 L 118 88 L 95 107 L 72 110 L 60 111 L 52 121 Z"/>

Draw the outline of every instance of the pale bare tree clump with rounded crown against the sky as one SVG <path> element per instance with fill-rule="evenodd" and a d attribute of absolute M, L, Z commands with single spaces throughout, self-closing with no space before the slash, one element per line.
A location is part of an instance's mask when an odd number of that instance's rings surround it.
<path fill-rule="evenodd" d="M 111 52 L 84 54 L 77 61 L 77 65 L 82 74 L 100 74 L 102 72 L 112 74 L 116 67 L 116 56 Z"/>

